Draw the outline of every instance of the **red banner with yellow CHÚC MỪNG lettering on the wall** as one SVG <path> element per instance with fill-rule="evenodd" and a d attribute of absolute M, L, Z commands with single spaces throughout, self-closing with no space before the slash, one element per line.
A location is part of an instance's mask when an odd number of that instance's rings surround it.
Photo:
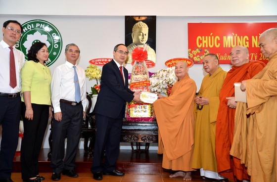
<path fill-rule="evenodd" d="M 276 23 L 188 23 L 188 57 L 194 64 L 202 64 L 208 53 L 216 54 L 220 64 L 231 64 L 230 51 L 233 46 L 249 49 L 249 59 L 265 63 L 259 47 L 259 36 Z"/>

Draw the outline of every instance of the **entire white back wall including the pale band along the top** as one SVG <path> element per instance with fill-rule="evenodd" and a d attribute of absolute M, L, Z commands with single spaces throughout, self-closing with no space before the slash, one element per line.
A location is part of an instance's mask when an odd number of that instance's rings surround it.
<path fill-rule="evenodd" d="M 216 1 L 217 5 L 213 3 L 215 0 L 209 1 L 209 3 L 204 0 L 195 2 L 172 0 L 164 2 L 166 6 L 162 5 L 160 0 L 151 0 L 147 1 L 147 3 L 142 0 L 139 2 L 139 5 L 143 4 L 142 6 L 145 7 L 142 10 L 134 8 L 135 6 L 131 7 L 128 5 L 130 1 L 123 0 L 98 0 L 97 2 L 93 0 L 83 0 L 81 2 L 48 0 L 47 3 L 38 3 L 35 0 L 28 0 L 28 3 L 26 3 L 26 1 L 0 0 L 0 24 L 2 25 L 8 19 L 15 19 L 20 23 L 33 19 L 49 21 L 61 33 L 63 50 L 65 45 L 69 43 L 75 43 L 79 46 L 81 49 L 79 65 L 84 69 L 89 65 L 88 61 L 92 58 L 112 57 L 113 47 L 116 44 L 125 42 L 124 15 L 158 15 L 157 63 L 154 68 L 149 69 L 150 72 L 166 68 L 164 62 L 168 59 L 187 57 L 187 23 L 277 21 L 276 0 L 245 0 L 243 2 L 235 0 L 230 1 L 231 4 L 227 0 L 223 0 Z M 30 2 L 34 4 L 30 5 Z M 16 4 L 16 6 L 13 4 Z M 179 6 L 178 4 L 181 5 Z M 202 5 L 199 6 L 199 4 Z M 10 10 L 9 5 L 13 5 L 14 9 Z M 147 5 L 155 8 L 149 9 Z M 2 34 L 0 34 L 1 39 Z M 53 73 L 54 68 L 64 63 L 64 61 L 64 53 L 61 53 L 59 59 L 50 66 L 51 72 Z M 224 70 L 228 71 L 230 69 L 230 65 L 221 66 Z M 131 72 L 131 65 L 126 67 Z M 194 65 L 191 67 L 189 75 L 195 80 L 197 90 L 199 90 L 205 75 L 202 66 Z M 94 83 L 87 80 L 88 91 L 90 91 L 92 85 Z M 43 144 L 44 148 L 49 147 L 47 141 L 48 131 L 49 128 L 47 128 Z M 127 143 L 122 145 L 121 148 L 129 146 Z M 83 148 L 83 143 L 80 144 L 80 148 Z M 156 149 L 156 147 L 151 147 L 151 149 Z"/>

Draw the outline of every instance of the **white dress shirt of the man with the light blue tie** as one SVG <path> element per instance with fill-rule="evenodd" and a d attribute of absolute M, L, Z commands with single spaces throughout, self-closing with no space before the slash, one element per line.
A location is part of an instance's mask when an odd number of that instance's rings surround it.
<path fill-rule="evenodd" d="M 60 99 L 75 102 L 75 85 L 74 85 L 74 68 L 73 64 L 66 61 L 56 67 L 52 76 L 51 91 L 52 91 L 52 105 L 54 113 L 61 112 Z M 83 68 L 76 66 L 78 81 L 80 85 L 81 100 L 83 110 L 86 111 L 87 106 L 87 88 L 86 88 L 86 74 Z"/>

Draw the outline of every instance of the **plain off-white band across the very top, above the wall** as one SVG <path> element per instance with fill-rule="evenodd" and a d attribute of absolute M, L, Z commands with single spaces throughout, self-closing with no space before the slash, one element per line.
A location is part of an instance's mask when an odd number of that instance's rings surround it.
<path fill-rule="evenodd" d="M 276 0 L 0 0 L 1 14 L 270 16 Z"/>

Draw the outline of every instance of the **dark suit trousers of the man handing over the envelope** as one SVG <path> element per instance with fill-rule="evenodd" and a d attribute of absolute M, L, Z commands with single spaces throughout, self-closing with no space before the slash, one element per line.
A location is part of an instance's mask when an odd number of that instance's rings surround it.
<path fill-rule="evenodd" d="M 122 114 L 113 119 L 100 114 L 95 114 L 96 136 L 92 160 L 92 173 L 111 172 L 115 170 L 119 154 L 120 134 L 122 129 Z M 106 153 L 104 163 L 101 162 L 103 153 Z"/>

